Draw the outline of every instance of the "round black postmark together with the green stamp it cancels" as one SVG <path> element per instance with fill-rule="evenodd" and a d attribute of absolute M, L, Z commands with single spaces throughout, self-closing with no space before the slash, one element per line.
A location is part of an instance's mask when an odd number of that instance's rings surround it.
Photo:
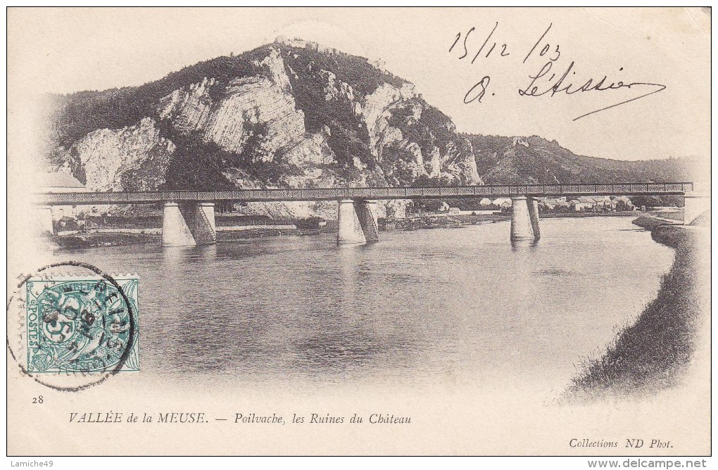
<path fill-rule="evenodd" d="M 24 375 L 79 391 L 139 370 L 139 280 L 66 261 L 23 276 L 7 306 L 7 347 Z"/>

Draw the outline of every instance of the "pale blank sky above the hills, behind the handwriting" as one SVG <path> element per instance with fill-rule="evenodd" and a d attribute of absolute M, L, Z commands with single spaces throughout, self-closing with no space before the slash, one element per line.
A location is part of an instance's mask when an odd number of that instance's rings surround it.
<path fill-rule="evenodd" d="M 701 9 L 11 8 L 10 116 L 39 93 L 141 85 L 278 36 L 383 60 L 460 132 L 538 135 L 608 159 L 710 156 Z M 616 89 L 579 90 L 603 77 Z M 576 93 L 552 91 L 569 84 Z"/>

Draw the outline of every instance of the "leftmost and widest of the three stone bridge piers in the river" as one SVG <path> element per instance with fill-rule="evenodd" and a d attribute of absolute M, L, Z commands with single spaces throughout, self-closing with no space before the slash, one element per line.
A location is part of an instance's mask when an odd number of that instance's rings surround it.
<path fill-rule="evenodd" d="M 162 246 L 209 245 L 217 241 L 213 202 L 167 202 L 162 212 Z"/>

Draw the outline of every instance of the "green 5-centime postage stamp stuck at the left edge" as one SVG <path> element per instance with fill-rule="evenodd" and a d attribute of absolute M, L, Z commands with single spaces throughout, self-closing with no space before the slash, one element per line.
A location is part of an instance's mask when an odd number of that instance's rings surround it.
<path fill-rule="evenodd" d="M 27 372 L 139 370 L 139 278 L 27 283 Z"/>

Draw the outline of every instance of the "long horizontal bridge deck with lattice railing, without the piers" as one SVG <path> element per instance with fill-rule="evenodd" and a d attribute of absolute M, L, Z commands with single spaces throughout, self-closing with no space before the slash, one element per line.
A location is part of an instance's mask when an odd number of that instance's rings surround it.
<path fill-rule="evenodd" d="M 349 187 L 307 189 L 236 189 L 234 191 L 63 192 L 35 194 L 39 205 L 120 205 L 157 202 L 269 202 L 331 201 L 339 199 L 451 199 L 463 197 L 636 196 L 685 194 L 692 182 L 679 183 L 578 183 L 490 184 L 444 187 Z"/>

